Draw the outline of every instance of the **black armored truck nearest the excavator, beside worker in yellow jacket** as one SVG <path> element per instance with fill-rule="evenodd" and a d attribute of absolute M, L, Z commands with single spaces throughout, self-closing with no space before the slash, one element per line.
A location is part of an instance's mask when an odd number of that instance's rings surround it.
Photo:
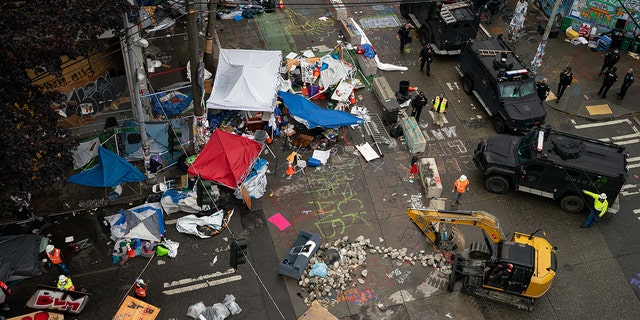
<path fill-rule="evenodd" d="M 559 199 L 562 210 L 577 213 L 593 202 L 582 193 L 587 190 L 606 193 L 609 211 L 617 212 L 618 194 L 628 176 L 627 158 L 623 146 L 547 126 L 524 136 L 490 136 L 478 144 L 473 164 L 490 192 L 515 189 Z"/>

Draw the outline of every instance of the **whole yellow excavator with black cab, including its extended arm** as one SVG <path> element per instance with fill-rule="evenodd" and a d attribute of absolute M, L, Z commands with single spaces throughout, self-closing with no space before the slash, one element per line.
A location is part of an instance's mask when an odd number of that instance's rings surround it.
<path fill-rule="evenodd" d="M 551 287 L 556 274 L 556 248 L 531 234 L 514 232 L 505 240 L 498 219 L 484 211 L 416 210 L 407 215 L 438 248 L 455 250 L 454 235 L 447 225 L 469 225 L 482 229 L 484 243 L 473 242 L 468 256 L 455 253 L 449 291 L 462 280 L 463 291 L 478 297 L 533 310 L 535 299 Z"/>

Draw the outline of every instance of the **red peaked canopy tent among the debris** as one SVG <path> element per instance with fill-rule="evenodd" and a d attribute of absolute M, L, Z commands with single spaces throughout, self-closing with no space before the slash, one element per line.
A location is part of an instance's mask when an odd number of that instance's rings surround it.
<path fill-rule="evenodd" d="M 259 142 L 215 129 L 188 172 L 236 189 L 247 177 L 261 151 Z"/>

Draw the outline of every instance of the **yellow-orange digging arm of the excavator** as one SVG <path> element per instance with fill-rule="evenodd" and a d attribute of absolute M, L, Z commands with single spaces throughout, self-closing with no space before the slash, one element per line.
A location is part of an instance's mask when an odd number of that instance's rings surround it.
<path fill-rule="evenodd" d="M 487 238 L 494 244 L 498 244 L 504 239 L 498 219 L 484 211 L 416 210 L 407 208 L 407 215 L 433 244 L 438 243 L 437 223 L 476 226 L 482 229 Z"/>

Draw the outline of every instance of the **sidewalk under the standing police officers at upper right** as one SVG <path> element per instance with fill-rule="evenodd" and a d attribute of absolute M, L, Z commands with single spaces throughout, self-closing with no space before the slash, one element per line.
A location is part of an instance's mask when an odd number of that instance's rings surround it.
<path fill-rule="evenodd" d="M 507 9 L 500 19 L 494 19 L 491 25 L 482 23 L 492 36 L 506 35 L 509 31 L 509 22 L 516 1 L 508 2 Z M 542 39 L 537 32 L 538 25 L 544 27 L 546 24 L 547 19 L 542 11 L 537 6 L 529 5 L 522 36 L 512 45 L 526 64 L 531 63 Z M 545 105 L 569 115 L 591 120 L 619 118 L 636 112 L 635 102 L 640 99 L 640 91 L 636 89 L 637 83 L 629 88 L 622 100 L 618 99 L 616 93 L 620 91 L 627 69 L 635 70 L 634 75 L 640 70 L 640 56 L 632 52 L 620 52 L 621 59 L 616 64 L 618 81 L 609 90 L 607 98 L 602 99 L 597 93 L 604 77 L 599 77 L 598 74 L 607 52 L 592 51 L 587 45 L 573 45 L 562 32 L 557 38 L 548 39 L 542 65 L 537 69 L 537 77 L 547 77 L 551 87 L 551 94 Z M 565 91 L 563 99 L 556 103 L 555 94 L 560 72 L 566 66 L 572 67 L 574 82 Z"/>

